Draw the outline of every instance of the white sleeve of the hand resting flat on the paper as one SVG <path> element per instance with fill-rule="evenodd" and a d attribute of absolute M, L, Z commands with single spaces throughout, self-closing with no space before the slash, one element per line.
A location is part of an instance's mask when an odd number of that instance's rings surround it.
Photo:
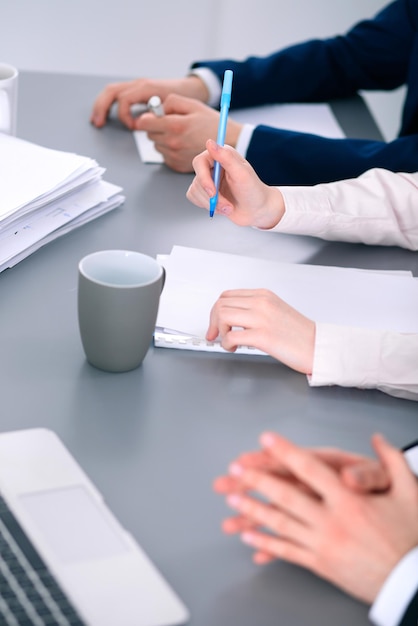
<path fill-rule="evenodd" d="M 418 401 L 418 334 L 317 323 L 308 382 L 377 388 Z"/>

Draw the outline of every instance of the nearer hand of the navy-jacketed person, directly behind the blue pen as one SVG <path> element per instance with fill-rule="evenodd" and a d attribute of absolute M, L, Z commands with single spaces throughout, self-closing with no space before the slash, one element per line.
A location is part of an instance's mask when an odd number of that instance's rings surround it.
<path fill-rule="evenodd" d="M 170 94 L 164 100 L 164 116 L 145 113 L 135 121 L 135 129 L 148 134 L 164 162 L 176 172 L 193 171 L 193 158 L 201 152 L 208 137 L 216 138 L 219 112 L 195 100 Z M 228 124 L 227 139 L 235 142 L 240 124 Z"/>

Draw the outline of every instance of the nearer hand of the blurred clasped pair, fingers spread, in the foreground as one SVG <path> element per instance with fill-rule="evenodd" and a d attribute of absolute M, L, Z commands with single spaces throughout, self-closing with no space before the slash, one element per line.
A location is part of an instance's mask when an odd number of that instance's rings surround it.
<path fill-rule="evenodd" d="M 375 435 L 372 443 L 390 486 L 385 492 L 364 494 L 348 489 L 311 451 L 273 433 L 262 435 L 263 448 L 295 482 L 233 466 L 240 487 L 228 496 L 228 503 L 247 520 L 241 538 L 255 548 L 256 562 L 265 563 L 274 555 L 373 602 L 398 561 L 418 545 L 418 485 L 399 450 L 381 436 Z"/>

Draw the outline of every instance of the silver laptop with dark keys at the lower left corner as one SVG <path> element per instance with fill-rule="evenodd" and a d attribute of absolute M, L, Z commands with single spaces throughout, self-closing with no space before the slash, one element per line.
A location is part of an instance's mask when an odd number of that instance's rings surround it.
<path fill-rule="evenodd" d="M 0 624 L 174 626 L 188 619 L 52 431 L 0 433 Z"/>

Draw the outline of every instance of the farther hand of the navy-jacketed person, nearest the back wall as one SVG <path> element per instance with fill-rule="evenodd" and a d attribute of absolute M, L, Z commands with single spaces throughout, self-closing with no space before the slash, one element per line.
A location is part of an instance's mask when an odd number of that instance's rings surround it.
<path fill-rule="evenodd" d="M 131 113 L 133 104 L 146 104 L 151 96 L 159 96 L 162 101 L 170 93 L 206 102 L 209 96 L 204 82 L 198 76 L 186 76 L 172 80 L 136 80 L 110 83 L 97 96 L 93 104 L 90 121 L 100 128 L 106 124 L 112 104 L 118 105 L 118 117 L 130 130 L 135 128 L 135 118 Z"/>

